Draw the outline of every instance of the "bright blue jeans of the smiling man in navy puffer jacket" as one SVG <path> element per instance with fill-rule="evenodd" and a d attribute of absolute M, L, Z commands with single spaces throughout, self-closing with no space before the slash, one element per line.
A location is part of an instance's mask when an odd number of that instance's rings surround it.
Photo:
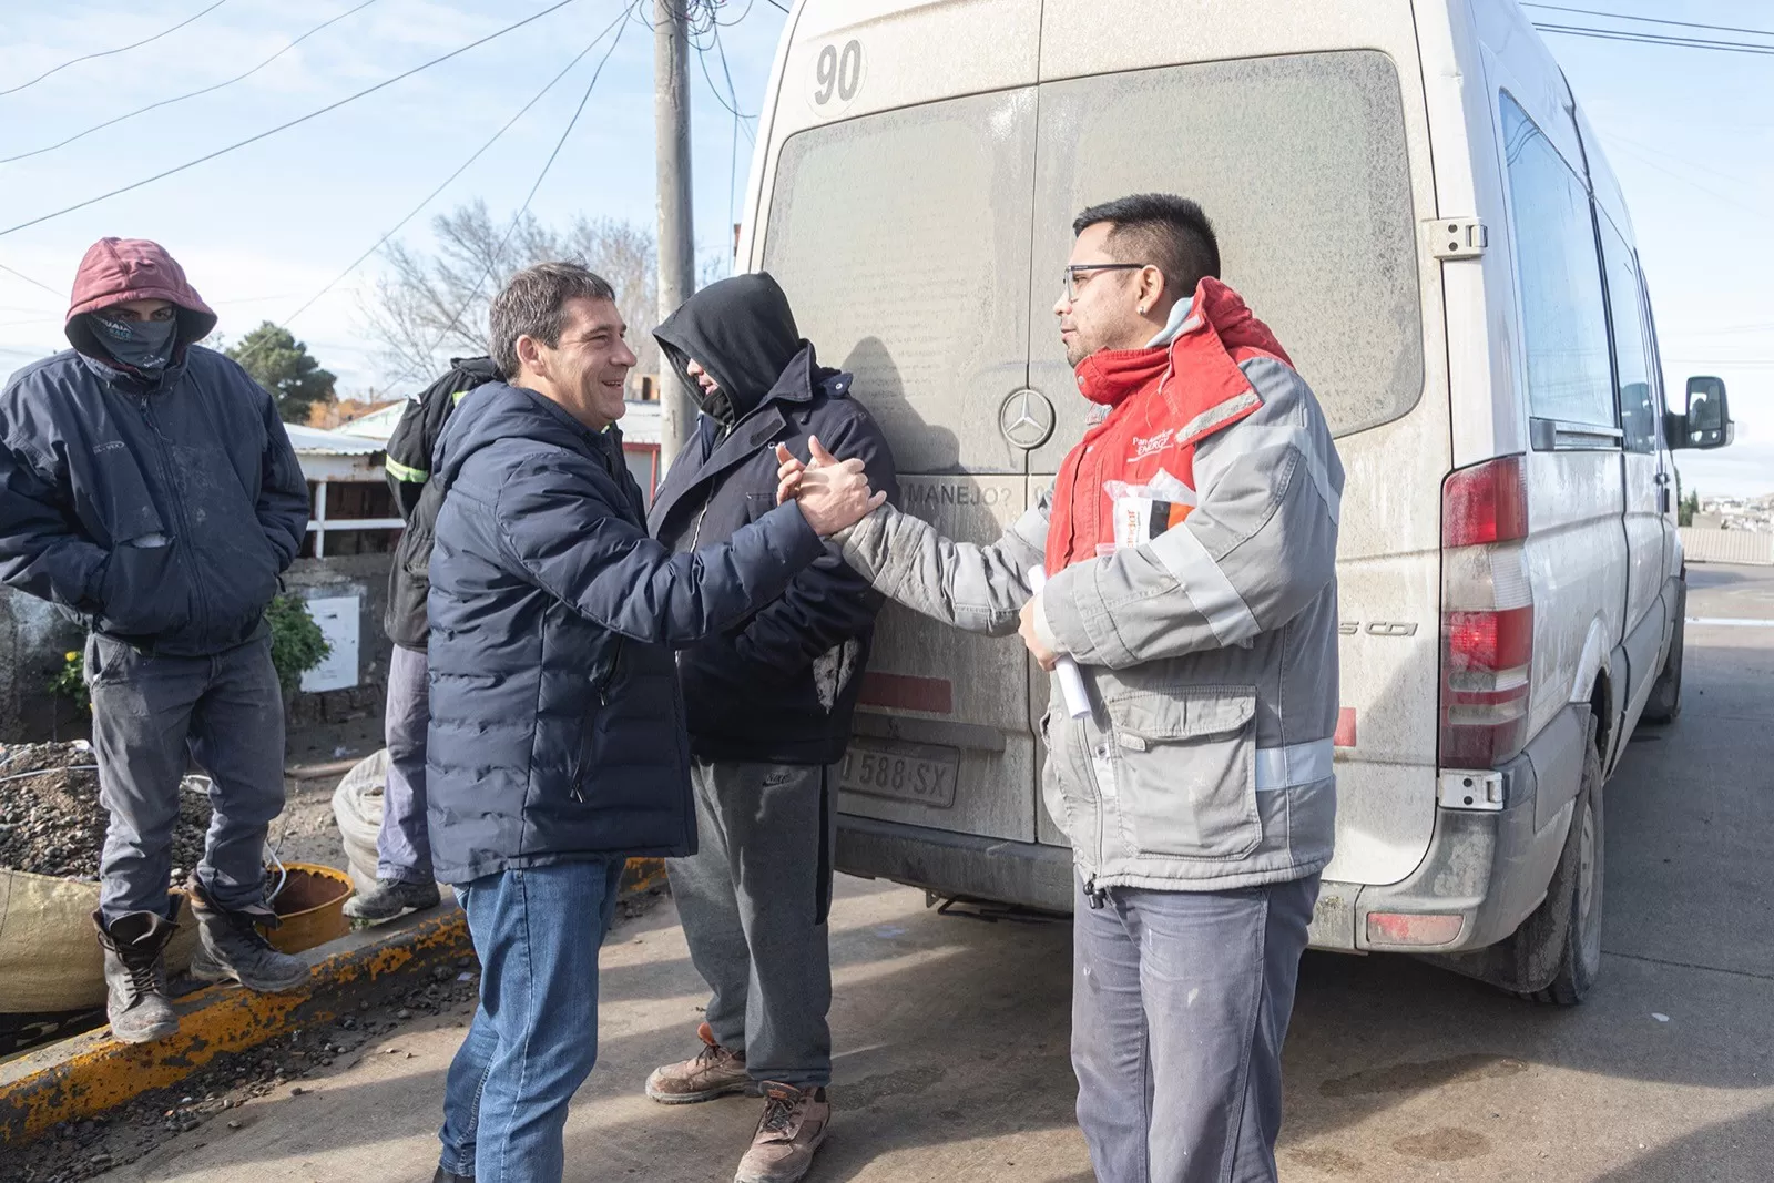
<path fill-rule="evenodd" d="M 438 1165 L 477 1183 L 559 1183 L 561 1132 L 598 1059 L 598 949 L 623 860 L 458 883 L 481 958 L 481 1009 L 444 1080 Z"/>

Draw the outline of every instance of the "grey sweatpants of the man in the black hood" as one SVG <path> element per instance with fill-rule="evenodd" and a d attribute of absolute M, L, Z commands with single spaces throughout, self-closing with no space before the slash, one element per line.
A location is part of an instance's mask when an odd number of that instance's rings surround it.
<path fill-rule="evenodd" d="M 665 864 L 715 1039 L 752 1080 L 832 1080 L 832 800 L 820 764 L 694 761 L 697 853 Z"/>

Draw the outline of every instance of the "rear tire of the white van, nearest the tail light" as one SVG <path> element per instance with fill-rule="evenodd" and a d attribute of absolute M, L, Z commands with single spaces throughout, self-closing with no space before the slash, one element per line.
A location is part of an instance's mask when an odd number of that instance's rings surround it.
<path fill-rule="evenodd" d="M 1508 938 L 1522 983 L 1540 983 L 1519 990 L 1522 999 L 1554 1006 L 1577 1006 L 1595 984 L 1602 968 L 1602 754 L 1595 747 L 1595 720 L 1590 720 L 1582 782 L 1570 814 L 1565 851 L 1547 897 Z"/>

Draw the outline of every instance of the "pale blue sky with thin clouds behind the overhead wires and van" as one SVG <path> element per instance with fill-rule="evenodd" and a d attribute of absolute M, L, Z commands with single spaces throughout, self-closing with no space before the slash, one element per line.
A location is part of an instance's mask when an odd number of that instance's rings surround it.
<path fill-rule="evenodd" d="M 35 280 L 0 270 L 0 381 L 66 348 L 60 312 L 75 264 L 106 234 L 165 243 L 220 314 L 225 337 L 263 319 L 286 321 L 617 21 L 623 0 L 571 0 L 257 144 L 32 227 L 11 234 L 7 227 L 266 131 L 555 2 L 0 0 L 0 90 L 21 87 L 0 94 L 0 158 L 225 82 L 339 18 L 243 82 L 0 163 L 0 268 Z M 1765 0 L 1574 0 L 1574 7 L 1774 30 L 1774 5 Z M 756 115 L 786 18 L 772 0 L 726 0 L 718 12 L 738 110 Z M 1550 9 L 1529 12 L 1634 28 Z M 153 37 L 188 18 L 195 20 L 151 44 L 30 83 L 71 59 Z M 655 223 L 653 37 L 639 20 L 617 27 L 621 39 L 530 204 L 543 222 L 587 215 Z M 1774 44 L 1774 35 L 1689 32 Z M 1689 374 L 1715 374 L 1730 390 L 1737 443 L 1680 452 L 1684 484 L 1703 497 L 1770 493 L 1774 57 L 1545 37 L 1627 193 L 1671 399 L 1680 401 Z M 511 216 L 608 46 L 605 35 L 396 238 L 428 247 L 429 218 L 474 199 L 486 200 L 495 216 Z M 694 216 L 699 255 L 718 266 L 743 208 L 752 144 L 742 129 L 734 151 L 720 57 L 710 51 L 703 62 L 718 92 L 692 60 Z M 373 255 L 287 321 L 353 397 L 389 394 L 362 328 L 376 273 Z"/>

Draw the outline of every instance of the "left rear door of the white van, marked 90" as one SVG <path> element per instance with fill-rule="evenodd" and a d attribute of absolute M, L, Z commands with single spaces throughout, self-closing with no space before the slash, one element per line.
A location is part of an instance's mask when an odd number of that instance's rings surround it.
<path fill-rule="evenodd" d="M 820 360 L 857 374 L 901 509 L 976 543 L 1029 504 L 1025 450 L 1001 411 L 1029 372 L 1038 11 L 802 5 L 750 254 Z M 992 53 L 974 53 L 986 37 Z M 889 605 L 841 811 L 1032 842 L 1029 670 L 1013 639 Z"/>

